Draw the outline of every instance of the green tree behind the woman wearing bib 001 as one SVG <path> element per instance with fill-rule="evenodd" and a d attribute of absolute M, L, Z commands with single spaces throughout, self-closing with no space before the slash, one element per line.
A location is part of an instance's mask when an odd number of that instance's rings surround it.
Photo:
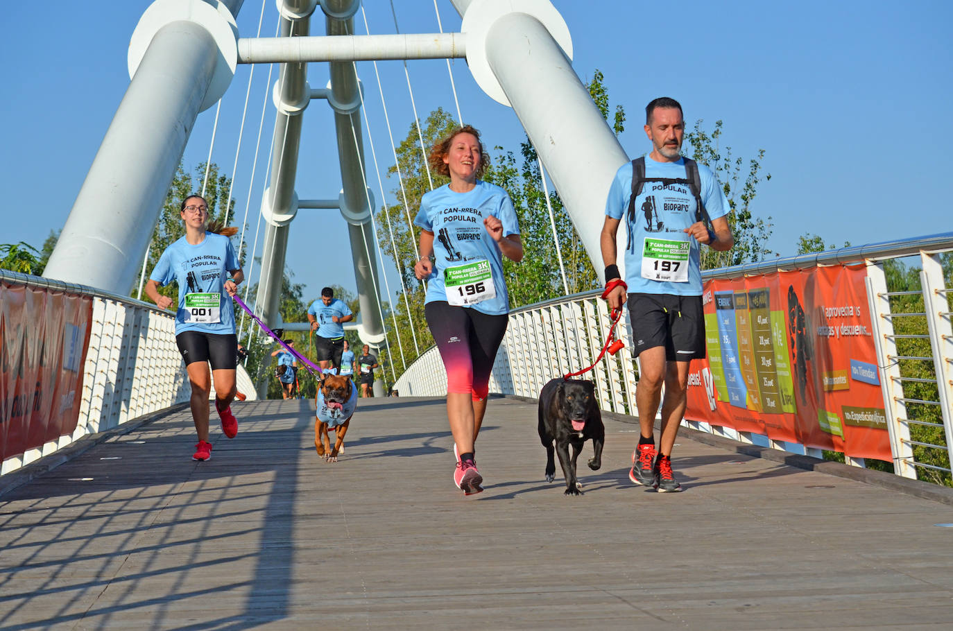
<path fill-rule="evenodd" d="M 152 232 L 152 241 L 149 245 L 148 260 L 146 261 L 146 277 L 152 272 L 152 268 L 159 262 L 159 256 L 165 252 L 165 249 L 172 245 L 179 237 L 185 234 L 185 226 L 182 223 L 181 206 L 182 200 L 190 194 L 202 193 L 202 182 L 205 180 L 206 163 L 203 162 L 195 167 L 193 173 L 188 173 L 180 164 L 172 177 L 172 185 L 169 192 L 166 193 L 166 200 L 159 211 L 158 219 L 155 223 L 155 230 Z M 205 195 L 209 202 L 209 222 L 225 221 L 225 201 L 228 198 L 229 188 L 232 185 L 232 178 L 221 173 L 218 166 L 213 162 L 209 168 L 209 179 L 205 186 Z M 233 223 L 235 199 L 232 198 L 229 204 L 228 216 Z M 237 246 L 237 242 L 234 243 Z M 243 246 L 243 251 L 245 247 Z M 238 253 L 238 260 L 245 260 L 245 252 Z M 139 279 L 136 278 L 132 285 L 132 296 L 138 295 Z M 168 295 L 173 300 L 177 295 L 178 288 L 174 285 L 166 285 L 159 288 L 159 294 Z M 142 299 L 152 302 L 148 296 L 143 293 Z"/>

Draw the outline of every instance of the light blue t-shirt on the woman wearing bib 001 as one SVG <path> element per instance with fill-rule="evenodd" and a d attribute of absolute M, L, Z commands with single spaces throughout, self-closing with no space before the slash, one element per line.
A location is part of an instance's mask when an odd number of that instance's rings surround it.
<path fill-rule="evenodd" d="M 239 267 L 232 239 L 224 234 L 206 232 L 205 238 L 197 245 L 190 244 L 183 236 L 166 248 L 149 277 L 160 285 L 168 285 L 173 280 L 178 283 L 176 336 L 185 331 L 219 335 L 235 332 L 232 296 L 225 292 L 225 281 L 229 278 L 229 272 Z M 190 298 L 193 306 L 187 312 L 186 295 L 189 294 L 193 294 Z M 213 302 L 208 301 L 208 296 L 197 296 L 199 294 L 219 295 L 216 315 L 211 313 Z M 218 321 L 194 321 L 202 319 Z"/>

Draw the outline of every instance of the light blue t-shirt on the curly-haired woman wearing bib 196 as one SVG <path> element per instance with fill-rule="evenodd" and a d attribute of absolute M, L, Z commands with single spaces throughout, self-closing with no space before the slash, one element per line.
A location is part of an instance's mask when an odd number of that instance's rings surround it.
<path fill-rule="evenodd" d="M 434 274 L 427 279 L 424 302 L 447 300 L 445 275 L 448 268 L 489 261 L 495 297 L 465 306 L 487 315 L 509 312 L 509 295 L 503 279 L 503 258 L 497 242 L 486 232 L 483 219 L 494 215 L 503 224 L 503 235 L 519 234 L 517 212 L 506 191 L 496 184 L 476 180 L 467 193 L 455 193 L 449 185 L 424 193 L 414 225 L 434 233 Z M 462 289 L 456 291 L 461 292 Z"/>

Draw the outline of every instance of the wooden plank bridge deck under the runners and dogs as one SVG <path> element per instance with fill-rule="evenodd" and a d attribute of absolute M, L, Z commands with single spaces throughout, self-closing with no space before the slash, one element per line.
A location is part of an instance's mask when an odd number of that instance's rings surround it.
<path fill-rule="evenodd" d="M 361 400 L 340 462 L 309 401 L 187 410 L 0 495 L 0 628 L 948 629 L 953 506 L 679 437 L 685 488 L 627 477 L 606 419 L 585 494 L 542 476 L 536 405 L 493 398 L 453 485 L 442 399 Z M 631 420 L 631 419 L 629 419 Z M 589 447 L 587 446 L 587 451 Z M 580 461 L 583 458 L 580 458 Z M 9 485 L 8 485 L 9 486 Z"/>

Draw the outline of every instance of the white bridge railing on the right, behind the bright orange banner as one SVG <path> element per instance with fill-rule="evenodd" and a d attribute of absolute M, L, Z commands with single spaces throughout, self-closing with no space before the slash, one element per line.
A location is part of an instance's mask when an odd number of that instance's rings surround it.
<path fill-rule="evenodd" d="M 925 478 L 949 483 L 949 453 L 953 450 L 951 401 L 953 401 L 953 332 L 943 263 L 953 262 L 953 233 L 929 237 L 803 254 L 771 261 L 711 270 L 703 280 L 765 275 L 779 270 L 805 269 L 824 265 L 867 265 L 867 294 L 881 370 L 882 395 L 893 454 L 894 470 L 906 478 Z M 917 257 L 914 259 L 913 257 Z M 919 267 L 920 287 L 915 291 L 889 292 L 883 271 L 885 259 L 905 258 Z M 949 270 L 946 274 L 949 275 Z M 610 316 L 599 292 L 570 295 L 529 305 L 510 313 L 510 324 L 497 353 L 490 391 L 536 398 L 543 384 L 553 377 L 581 370 L 595 361 L 605 341 Z M 892 313 L 891 303 L 902 295 L 919 296 L 912 311 Z M 902 334 L 895 325 L 905 320 Z M 606 354 L 592 372 L 579 378 L 596 384 L 601 409 L 637 416 L 636 386 L 638 364 L 629 355 L 633 348 L 628 313 L 619 320 L 617 337 L 625 349 L 616 356 Z M 898 344 L 911 340 L 929 341 L 929 354 L 906 356 Z M 925 346 L 924 346 L 925 348 Z M 919 363 L 923 371 L 911 376 L 902 366 Z M 925 372 L 925 375 L 924 375 Z M 932 396 L 911 397 L 905 390 L 923 384 Z M 436 347 L 419 356 L 401 375 L 395 390 L 401 397 L 442 397 L 446 395 L 446 372 Z M 933 391 L 933 387 L 936 388 Z M 921 393 L 923 389 L 921 389 Z M 935 414 L 935 411 L 940 414 Z M 933 410 L 924 414 L 924 410 Z M 683 421 L 701 431 L 759 444 L 792 453 L 822 457 L 821 449 L 770 438 L 703 421 Z M 925 436 L 930 438 L 923 438 Z M 862 458 L 844 458 L 849 464 L 865 466 Z"/>

